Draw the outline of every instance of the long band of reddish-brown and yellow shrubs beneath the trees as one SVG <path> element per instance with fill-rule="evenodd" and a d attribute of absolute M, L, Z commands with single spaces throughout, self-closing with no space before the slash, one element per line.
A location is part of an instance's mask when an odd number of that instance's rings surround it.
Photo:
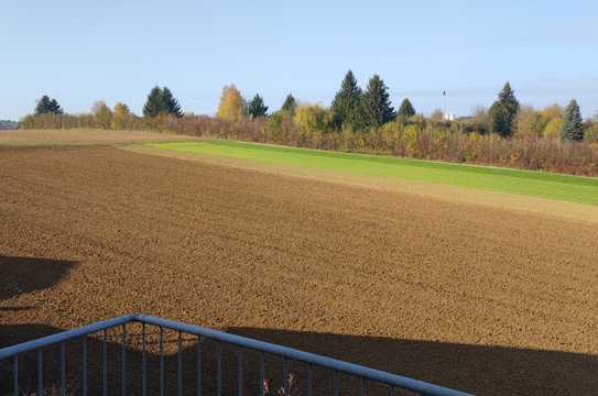
<path fill-rule="evenodd" d="M 562 142 L 558 139 L 561 118 L 552 119 L 544 128 L 548 136 L 518 133 L 511 139 L 502 139 L 498 134 L 463 133 L 458 123 L 433 125 L 423 118 L 407 125 L 389 122 L 366 131 L 355 131 L 350 125 L 336 130 L 331 119 L 329 110 L 318 105 L 303 105 L 297 107 L 294 118 L 286 111 L 265 119 L 242 118 L 239 121 L 205 116 L 178 118 L 161 114 L 143 119 L 131 116 L 127 129 L 598 176 L 598 143 Z M 91 114 L 43 114 L 24 118 L 20 128 L 99 125 Z M 592 128 L 596 123 L 587 124 L 586 131 Z M 556 139 L 552 138 L 551 130 L 554 130 Z M 596 134 L 586 134 L 586 139 L 590 136 Z"/>

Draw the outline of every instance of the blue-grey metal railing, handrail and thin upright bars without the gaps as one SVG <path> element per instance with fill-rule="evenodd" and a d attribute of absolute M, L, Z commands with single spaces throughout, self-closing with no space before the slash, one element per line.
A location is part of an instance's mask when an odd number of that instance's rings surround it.
<path fill-rule="evenodd" d="M 466 393 L 455 391 L 452 388 L 434 385 L 427 382 L 410 378 L 406 376 L 401 376 L 396 374 L 391 374 L 388 372 L 383 372 L 380 370 L 374 370 L 371 367 L 340 361 L 333 358 L 327 358 L 323 355 L 318 355 L 315 353 L 304 352 L 296 349 L 287 348 L 278 345 L 274 343 L 269 343 L 264 341 L 259 341 L 241 336 L 230 334 L 222 331 L 217 331 L 199 326 L 194 324 L 187 324 L 182 323 L 173 320 L 162 319 L 153 316 L 148 315 L 127 315 L 119 318 L 113 318 L 96 323 L 91 323 L 85 327 L 81 327 L 79 329 L 75 330 L 68 330 L 61 333 L 43 337 L 40 339 L 35 339 L 32 341 L 23 342 L 17 345 L 8 346 L 4 349 L 0 349 L 0 363 L 6 360 L 12 359 L 12 382 L 11 385 L 7 385 L 6 388 L 3 388 L 3 384 L 0 386 L 0 395 L 4 395 L 6 392 L 13 391 L 13 394 L 17 396 L 18 389 L 19 389 L 19 356 L 28 353 L 28 352 L 36 352 L 36 360 L 37 360 L 37 395 L 42 396 L 44 394 L 44 387 L 43 387 L 43 350 L 45 348 L 50 348 L 53 345 L 59 345 L 61 346 L 61 353 L 59 353 L 59 392 L 61 395 L 65 395 L 65 371 L 66 371 L 66 355 L 65 355 L 65 349 L 64 345 L 68 341 L 73 340 L 83 340 L 83 359 L 81 359 L 81 365 L 83 365 L 83 380 L 81 380 L 81 394 L 87 395 L 88 392 L 88 380 L 87 380 L 87 337 L 94 333 L 104 332 L 104 339 L 102 339 L 102 346 L 101 346 L 101 383 L 102 383 L 102 395 L 108 394 L 108 377 L 107 377 L 107 346 L 106 346 L 106 338 L 107 338 L 107 330 L 113 329 L 113 328 L 122 328 L 122 352 L 121 352 L 121 376 L 122 376 L 122 389 L 121 394 L 124 396 L 127 394 L 127 324 L 130 323 L 141 323 L 142 324 L 142 373 L 141 373 L 141 394 L 146 395 L 148 394 L 148 372 L 146 372 L 146 358 L 145 358 L 145 349 L 146 349 L 146 332 L 145 332 L 145 326 L 153 326 L 157 327 L 160 329 L 160 395 L 164 395 L 164 344 L 163 344 L 163 334 L 164 329 L 173 330 L 178 332 L 178 350 L 177 350 L 177 367 L 176 367 L 176 383 L 177 383 L 177 395 L 183 394 L 183 374 L 182 374 L 182 365 L 183 360 L 181 358 L 182 349 L 181 349 L 181 340 L 182 334 L 193 334 L 198 338 L 204 338 L 207 340 L 215 341 L 217 343 L 222 343 L 227 345 L 233 345 L 238 346 L 240 349 L 244 350 L 251 350 L 257 351 L 260 354 L 260 361 L 259 361 L 259 380 L 258 384 L 258 394 L 263 396 L 264 395 L 264 387 L 261 385 L 264 382 L 264 355 L 272 355 L 281 358 L 283 361 L 283 386 L 282 386 L 282 394 L 287 395 L 287 374 L 289 374 L 289 362 L 302 362 L 304 364 L 307 364 L 308 372 L 307 372 L 307 384 L 306 384 L 306 395 L 312 395 L 312 376 L 313 376 L 313 369 L 314 367 L 322 367 L 326 370 L 330 370 L 335 373 L 334 375 L 334 391 L 333 394 L 339 395 L 339 375 L 338 373 L 343 373 L 345 375 L 349 375 L 351 377 L 359 378 L 361 381 L 361 392 L 360 394 L 365 394 L 363 391 L 363 381 L 369 381 L 372 383 L 385 385 L 390 389 L 390 394 L 394 392 L 394 389 L 406 389 L 410 392 L 414 392 L 421 395 L 432 395 L 432 396 L 461 396 L 467 395 Z M 200 378 L 200 354 L 197 354 L 197 375 Z M 241 360 L 238 360 L 238 367 L 237 367 L 237 377 L 238 386 L 237 386 L 237 394 L 242 394 L 242 363 Z M 217 376 L 217 385 L 216 385 L 216 395 L 221 396 L 222 395 L 222 352 L 221 349 L 218 349 L 217 352 L 217 359 L 216 359 L 216 376 Z M 197 378 L 196 378 L 197 380 Z M 202 382 L 196 381 L 197 383 L 197 395 L 202 394 Z"/>

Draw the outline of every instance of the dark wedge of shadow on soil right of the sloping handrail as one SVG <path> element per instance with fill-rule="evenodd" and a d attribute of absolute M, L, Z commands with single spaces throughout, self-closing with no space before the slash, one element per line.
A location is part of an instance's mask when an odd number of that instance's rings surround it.
<path fill-rule="evenodd" d="M 595 394 L 598 355 L 232 328 L 230 332 L 476 394 Z"/>

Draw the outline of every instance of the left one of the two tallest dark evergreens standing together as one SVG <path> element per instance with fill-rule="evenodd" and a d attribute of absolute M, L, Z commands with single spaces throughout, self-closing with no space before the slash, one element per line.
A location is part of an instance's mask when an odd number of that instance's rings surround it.
<path fill-rule="evenodd" d="M 354 73 L 351 70 L 347 72 L 340 85 L 340 90 L 336 94 L 330 106 L 337 125 L 354 129 L 362 127 L 361 95 L 361 88 L 357 85 Z"/>

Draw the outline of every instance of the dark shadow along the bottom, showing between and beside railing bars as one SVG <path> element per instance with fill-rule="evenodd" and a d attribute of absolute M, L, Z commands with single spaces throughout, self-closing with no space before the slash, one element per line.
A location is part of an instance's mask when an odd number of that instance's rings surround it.
<path fill-rule="evenodd" d="M 19 324 L 0 327 L 0 346 L 23 342 L 34 337 L 46 336 L 59 329 L 41 324 Z M 457 389 L 483 395 L 589 395 L 598 389 L 598 356 L 555 351 L 511 349 L 499 346 L 465 345 L 442 342 L 394 340 L 382 337 L 340 336 L 330 333 L 297 332 L 274 329 L 230 328 L 229 332 L 260 339 L 269 342 L 301 349 L 308 352 L 329 355 L 349 362 L 369 365 L 374 369 L 396 373 L 414 378 L 449 386 Z M 159 389 L 159 331 L 148 327 L 148 388 L 149 394 Z M 140 352 L 141 328 L 130 324 L 128 329 L 127 373 L 129 394 L 139 394 L 141 388 Z M 91 394 L 101 389 L 101 346 L 97 337 L 88 340 L 89 387 Z M 109 394 L 120 394 L 122 367 L 121 330 L 108 332 L 108 383 Z M 166 331 L 164 338 L 165 394 L 176 394 L 178 359 L 177 333 Z M 183 336 L 181 364 L 183 367 L 183 394 L 192 395 L 197 386 L 198 345 L 202 351 L 202 387 L 204 395 L 216 393 L 216 351 L 218 344 L 209 340 L 197 340 L 193 336 Z M 81 341 L 74 340 L 66 346 L 67 383 L 73 392 L 80 392 Z M 251 351 L 222 345 L 224 395 L 236 394 L 238 359 L 242 360 L 242 386 L 248 395 L 258 389 L 258 354 Z M 44 350 L 44 378 L 52 384 L 57 378 L 57 348 Z M 35 381 L 35 355 L 20 358 L 20 378 L 23 389 L 31 388 Z M 269 378 L 270 395 L 276 395 L 282 384 L 282 362 L 275 356 L 265 358 L 265 377 Z M 9 365 L 0 363 L 3 376 L 9 380 Z M 291 395 L 305 395 L 306 366 L 291 362 L 290 373 L 294 387 Z M 314 395 L 333 394 L 333 373 L 316 369 L 314 372 Z M 10 381 L 1 381 L 0 395 L 10 391 Z M 54 381 L 55 383 L 55 381 Z M 359 382 L 340 376 L 340 394 L 358 395 Z M 385 388 L 368 385 L 368 395 L 387 395 Z M 407 393 L 398 392 L 395 395 Z"/>

